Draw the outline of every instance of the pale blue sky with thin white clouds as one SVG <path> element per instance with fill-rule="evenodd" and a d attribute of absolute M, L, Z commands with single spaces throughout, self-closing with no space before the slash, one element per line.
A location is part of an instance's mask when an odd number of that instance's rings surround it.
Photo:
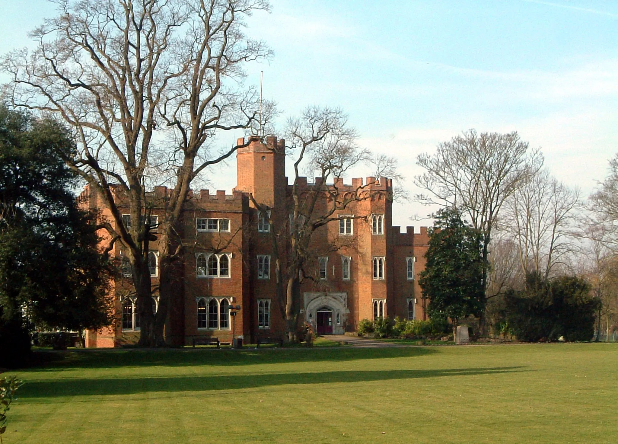
<path fill-rule="evenodd" d="M 517 130 L 585 194 L 618 152 L 616 1 L 271 2 L 248 33 L 275 55 L 247 82 L 264 71 L 281 124 L 307 105 L 344 109 L 364 146 L 397 156 L 412 193 L 418 153 L 470 128 Z M 5 52 L 28 45 L 53 5 L 0 0 L 0 11 Z M 231 190 L 234 173 L 233 162 L 215 169 L 213 186 Z M 405 203 L 394 223 L 426 212 Z"/>

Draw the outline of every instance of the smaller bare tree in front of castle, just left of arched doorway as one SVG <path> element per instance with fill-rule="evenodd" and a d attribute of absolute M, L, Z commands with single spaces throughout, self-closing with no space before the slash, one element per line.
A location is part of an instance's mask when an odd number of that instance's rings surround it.
<path fill-rule="evenodd" d="M 355 202 L 371 199 L 373 183 L 353 187 L 343 186 L 342 178 L 353 167 L 366 163 L 372 168 L 374 177 L 401 177 L 397 173 L 394 158 L 371 153 L 357 145 L 357 132 L 347 123 L 347 116 L 340 109 L 305 109 L 301 117 L 290 119 L 287 124 L 286 141 L 289 155 L 294 158 L 294 183 L 289 195 L 289 221 L 284 227 L 277 227 L 270 218 L 275 257 L 277 299 L 286 318 L 289 341 L 297 341 L 298 322 L 301 309 L 300 286 L 303 281 L 317 276 L 308 272 L 319 255 L 328 254 L 352 244 L 330 244 L 324 246 L 315 241 L 315 234 L 326 225 L 349 215 L 341 212 Z M 301 181 L 302 172 L 315 177 L 315 183 Z M 332 184 L 327 184 L 332 181 Z M 388 199 L 393 199 L 389 196 Z M 268 216 L 269 208 L 253 200 L 262 217 Z M 354 216 L 360 219 L 364 216 Z M 286 251 L 285 256 L 281 253 Z M 285 260 L 283 260 L 285 258 Z"/>

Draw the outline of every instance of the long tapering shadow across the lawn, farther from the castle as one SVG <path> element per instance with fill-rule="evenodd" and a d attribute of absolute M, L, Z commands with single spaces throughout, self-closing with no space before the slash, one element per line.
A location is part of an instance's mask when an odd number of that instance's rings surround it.
<path fill-rule="evenodd" d="M 59 396 L 135 395 L 155 391 L 235 390 L 286 384 L 323 384 L 337 382 L 369 382 L 394 379 L 455 377 L 526 372 L 523 367 L 489 367 L 477 369 L 436 370 L 358 370 L 316 373 L 283 373 L 263 375 L 216 375 L 169 378 L 70 378 L 25 383 L 20 397 L 53 398 Z"/>

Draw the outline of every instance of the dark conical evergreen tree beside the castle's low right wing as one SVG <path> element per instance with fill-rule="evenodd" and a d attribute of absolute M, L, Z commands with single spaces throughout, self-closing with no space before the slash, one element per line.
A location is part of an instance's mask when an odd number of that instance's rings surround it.
<path fill-rule="evenodd" d="M 429 299 L 430 318 L 450 318 L 455 331 L 461 318 L 480 316 L 485 310 L 483 236 L 462 221 L 456 208 L 438 211 L 426 259 L 418 283 Z"/>

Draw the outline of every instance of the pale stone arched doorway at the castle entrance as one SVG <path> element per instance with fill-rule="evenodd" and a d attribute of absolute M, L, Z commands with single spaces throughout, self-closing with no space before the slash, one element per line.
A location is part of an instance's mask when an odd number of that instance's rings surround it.
<path fill-rule="evenodd" d="M 303 294 L 305 321 L 318 335 L 343 335 L 349 310 L 347 293 L 306 292 Z"/>

